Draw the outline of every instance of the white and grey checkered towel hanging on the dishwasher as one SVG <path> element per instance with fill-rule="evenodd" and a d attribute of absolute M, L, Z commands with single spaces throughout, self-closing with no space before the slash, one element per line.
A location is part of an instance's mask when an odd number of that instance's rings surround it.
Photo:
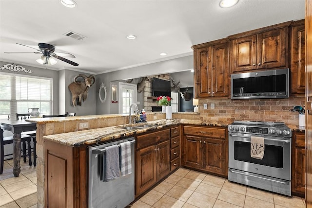
<path fill-rule="evenodd" d="M 132 173 L 130 141 L 120 143 L 120 171 L 121 176 Z"/>

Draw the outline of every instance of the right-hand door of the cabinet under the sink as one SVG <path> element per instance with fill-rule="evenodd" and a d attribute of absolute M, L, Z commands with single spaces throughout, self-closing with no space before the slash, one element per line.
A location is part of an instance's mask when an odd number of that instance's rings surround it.
<path fill-rule="evenodd" d="M 156 173 L 157 180 L 167 176 L 170 172 L 170 141 L 157 145 Z"/>

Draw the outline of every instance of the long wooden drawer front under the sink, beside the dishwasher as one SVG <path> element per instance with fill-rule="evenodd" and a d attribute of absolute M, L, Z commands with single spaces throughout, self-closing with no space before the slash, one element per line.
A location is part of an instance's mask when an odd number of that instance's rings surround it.
<path fill-rule="evenodd" d="M 170 136 L 170 129 L 157 131 L 150 134 L 145 134 L 141 136 L 137 136 L 137 149 L 140 149 L 142 147 L 147 147 L 165 140 L 169 140 Z"/>

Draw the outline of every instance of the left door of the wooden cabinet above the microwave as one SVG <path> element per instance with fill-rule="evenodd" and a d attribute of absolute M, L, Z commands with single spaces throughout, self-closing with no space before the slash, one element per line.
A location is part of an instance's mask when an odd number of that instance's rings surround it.
<path fill-rule="evenodd" d="M 256 35 L 250 35 L 232 41 L 232 72 L 256 69 L 256 37 Z"/>

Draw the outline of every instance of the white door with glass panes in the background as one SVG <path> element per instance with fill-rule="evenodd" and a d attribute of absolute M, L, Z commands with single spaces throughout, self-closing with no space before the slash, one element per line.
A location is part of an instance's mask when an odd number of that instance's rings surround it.
<path fill-rule="evenodd" d="M 119 82 L 119 90 L 118 113 L 129 114 L 130 105 L 137 103 L 137 85 Z"/>

